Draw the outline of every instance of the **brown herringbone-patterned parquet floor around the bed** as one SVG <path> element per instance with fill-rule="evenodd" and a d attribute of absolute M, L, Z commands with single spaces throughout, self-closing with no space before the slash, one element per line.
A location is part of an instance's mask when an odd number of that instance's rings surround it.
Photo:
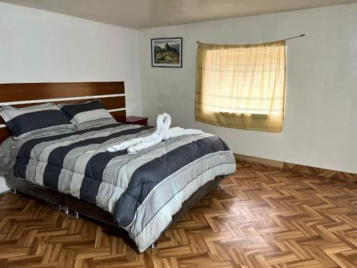
<path fill-rule="evenodd" d="M 0 267 L 357 267 L 357 183 L 238 164 L 138 254 L 126 235 L 0 196 Z"/>

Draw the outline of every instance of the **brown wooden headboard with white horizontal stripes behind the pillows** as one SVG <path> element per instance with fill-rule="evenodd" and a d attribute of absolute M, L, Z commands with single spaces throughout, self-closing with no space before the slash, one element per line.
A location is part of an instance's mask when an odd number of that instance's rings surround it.
<path fill-rule="evenodd" d="M 0 84 L 0 106 L 34 106 L 46 102 L 80 103 L 100 99 L 116 120 L 126 119 L 124 81 Z M 0 143 L 11 136 L 0 117 Z"/>

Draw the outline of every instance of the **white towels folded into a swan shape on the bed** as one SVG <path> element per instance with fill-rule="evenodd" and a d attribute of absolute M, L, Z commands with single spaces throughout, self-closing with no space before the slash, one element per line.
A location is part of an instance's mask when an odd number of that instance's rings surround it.
<path fill-rule="evenodd" d="M 136 154 L 136 152 L 152 147 L 166 139 L 203 133 L 203 131 L 199 129 L 182 129 L 178 126 L 170 129 L 170 125 L 171 116 L 166 113 L 159 114 L 156 119 L 156 130 L 152 134 L 146 137 L 129 139 L 125 142 L 121 142 L 120 144 L 108 147 L 106 150 L 108 152 L 118 152 L 127 149 L 129 154 Z"/>

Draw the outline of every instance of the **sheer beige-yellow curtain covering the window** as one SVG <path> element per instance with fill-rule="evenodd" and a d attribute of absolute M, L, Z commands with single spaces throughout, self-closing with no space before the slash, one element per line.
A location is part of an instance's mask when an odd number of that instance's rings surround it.
<path fill-rule="evenodd" d="M 196 121 L 281 132 L 285 40 L 265 44 L 198 44 Z"/>

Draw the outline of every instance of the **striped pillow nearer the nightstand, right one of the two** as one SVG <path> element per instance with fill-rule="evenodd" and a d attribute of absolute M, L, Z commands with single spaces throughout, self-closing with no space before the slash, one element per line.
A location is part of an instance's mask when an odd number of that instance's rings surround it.
<path fill-rule="evenodd" d="M 116 123 L 116 119 L 109 114 L 109 111 L 104 108 L 99 99 L 82 102 L 81 104 L 59 104 L 59 109 L 66 114 L 77 130 Z"/>

